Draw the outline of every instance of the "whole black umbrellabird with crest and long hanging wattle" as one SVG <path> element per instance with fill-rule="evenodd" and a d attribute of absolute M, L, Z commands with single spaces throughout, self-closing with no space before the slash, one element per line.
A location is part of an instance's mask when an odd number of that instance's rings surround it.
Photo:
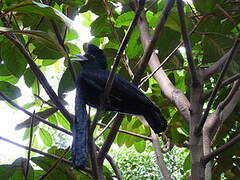
<path fill-rule="evenodd" d="M 88 116 L 85 105 L 98 108 L 104 93 L 109 71 L 103 51 L 93 44 L 88 44 L 85 55 L 76 55 L 82 66 L 76 80 L 75 123 L 73 125 L 73 164 L 82 168 L 87 157 Z M 109 97 L 104 110 L 123 114 L 142 115 L 155 133 L 164 131 L 167 121 L 151 100 L 134 84 L 115 74 Z M 85 136 L 85 137 L 84 137 Z M 79 151 L 78 151 L 79 150 Z"/>

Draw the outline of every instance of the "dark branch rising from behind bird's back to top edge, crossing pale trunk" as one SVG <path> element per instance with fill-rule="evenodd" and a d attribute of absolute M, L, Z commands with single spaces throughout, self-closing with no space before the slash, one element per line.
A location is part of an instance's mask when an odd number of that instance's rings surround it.
<path fill-rule="evenodd" d="M 141 77 L 147 67 L 147 64 L 150 60 L 150 57 L 152 56 L 152 52 L 154 50 L 155 44 L 158 40 L 158 37 L 160 35 L 160 33 L 163 31 L 163 27 L 165 22 L 167 21 L 167 17 L 174 5 L 175 0 L 168 0 L 162 14 L 161 17 L 159 18 L 159 21 L 157 23 L 157 26 L 155 28 L 154 34 L 152 36 L 152 39 L 150 40 L 150 42 L 148 43 L 147 47 L 144 50 L 144 54 L 143 57 L 140 60 L 140 64 L 138 65 L 138 71 L 136 72 L 136 74 L 134 75 L 134 80 L 133 83 L 137 84 L 136 82 L 139 82 L 141 80 Z"/>

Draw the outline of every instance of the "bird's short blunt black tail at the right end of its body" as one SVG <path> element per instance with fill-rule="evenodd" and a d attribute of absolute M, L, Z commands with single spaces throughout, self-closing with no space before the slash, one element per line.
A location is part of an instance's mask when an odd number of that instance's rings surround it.
<path fill-rule="evenodd" d="M 143 115 L 156 134 L 165 131 L 167 128 L 167 121 L 160 110 L 152 109 L 151 111 L 145 112 Z"/>

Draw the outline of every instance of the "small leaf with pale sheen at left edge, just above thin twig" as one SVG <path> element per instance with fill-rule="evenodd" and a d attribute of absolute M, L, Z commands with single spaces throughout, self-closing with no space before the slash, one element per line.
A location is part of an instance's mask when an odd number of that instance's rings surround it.
<path fill-rule="evenodd" d="M 4 81 L 0 81 L 0 91 L 11 100 L 17 99 L 22 95 L 17 86 Z M 0 100 L 2 100 L 2 98 L 0 98 Z"/>

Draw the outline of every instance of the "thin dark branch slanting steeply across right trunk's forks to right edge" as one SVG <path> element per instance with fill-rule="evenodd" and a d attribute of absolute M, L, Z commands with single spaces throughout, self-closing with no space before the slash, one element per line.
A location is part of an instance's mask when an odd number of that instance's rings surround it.
<path fill-rule="evenodd" d="M 215 99 L 215 96 L 216 96 L 216 94 L 217 94 L 217 92 L 218 92 L 218 89 L 220 88 L 221 81 L 222 81 L 222 79 L 223 79 L 223 77 L 224 77 L 224 75 L 225 75 L 225 73 L 226 73 L 226 71 L 227 71 L 227 68 L 228 68 L 230 62 L 232 61 L 232 59 L 233 59 L 233 58 L 235 57 L 235 55 L 236 55 L 236 52 L 237 52 L 238 47 L 239 47 L 239 44 L 240 44 L 240 39 L 237 39 L 237 40 L 234 42 L 234 45 L 233 45 L 233 48 L 231 49 L 231 53 L 230 53 L 230 55 L 229 55 L 229 58 L 228 58 L 227 61 L 225 62 L 224 67 L 223 67 L 223 69 L 222 69 L 222 71 L 221 71 L 221 74 L 220 74 L 220 76 L 219 76 L 219 78 L 218 78 L 218 81 L 217 81 L 217 83 L 216 83 L 216 85 L 215 85 L 215 87 L 214 87 L 214 89 L 213 89 L 213 92 L 212 92 L 212 94 L 211 94 L 210 100 L 209 100 L 209 102 L 208 102 L 208 104 L 207 104 L 207 108 L 206 108 L 206 110 L 204 111 L 204 114 L 203 114 L 202 117 L 201 117 L 201 120 L 200 120 L 200 123 L 199 123 L 198 127 L 197 127 L 196 130 L 195 130 L 195 133 L 196 133 L 196 134 L 199 134 L 199 133 L 201 132 L 201 130 L 202 130 L 202 127 L 203 127 L 203 125 L 204 125 L 204 123 L 205 123 L 205 121 L 206 121 L 206 119 L 207 119 L 207 116 L 208 116 L 208 113 L 209 113 L 210 108 L 211 108 L 211 106 L 212 106 L 212 103 L 213 103 L 213 101 L 214 101 L 214 99 Z"/>

